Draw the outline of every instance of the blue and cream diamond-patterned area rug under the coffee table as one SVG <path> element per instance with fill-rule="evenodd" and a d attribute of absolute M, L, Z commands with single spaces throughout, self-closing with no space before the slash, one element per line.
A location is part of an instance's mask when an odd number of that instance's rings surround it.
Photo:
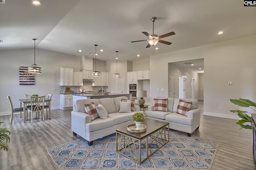
<path fill-rule="evenodd" d="M 116 152 L 116 134 L 93 142 L 84 139 L 48 149 L 60 170 L 210 170 L 219 144 L 170 130 L 170 141 L 142 164 Z"/>

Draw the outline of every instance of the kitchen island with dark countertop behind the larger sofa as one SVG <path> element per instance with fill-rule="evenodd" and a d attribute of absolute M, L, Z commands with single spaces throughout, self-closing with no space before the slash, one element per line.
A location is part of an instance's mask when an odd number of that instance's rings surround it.
<path fill-rule="evenodd" d="M 126 96 L 128 99 L 132 98 L 132 94 L 128 93 L 109 93 L 109 94 L 72 94 L 73 96 L 73 110 L 74 110 L 74 104 L 76 103 L 76 100 L 81 99 L 101 99 L 101 98 L 116 98 L 119 96 Z"/>

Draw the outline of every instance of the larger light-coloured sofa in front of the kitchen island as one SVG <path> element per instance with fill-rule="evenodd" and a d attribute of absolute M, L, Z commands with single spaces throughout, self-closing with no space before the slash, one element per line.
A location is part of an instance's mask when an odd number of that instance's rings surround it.
<path fill-rule="evenodd" d="M 116 133 L 116 129 L 134 123 L 132 115 L 140 111 L 139 106 L 134 106 L 135 111 L 130 113 L 119 113 L 121 99 L 128 99 L 125 96 L 117 98 L 102 98 L 102 99 L 84 99 L 77 100 L 74 105 L 74 111 L 71 112 L 71 129 L 73 135 L 80 135 L 88 141 L 88 145 L 92 145 L 93 141 L 112 133 Z M 86 114 L 84 104 L 94 102 L 96 106 L 102 104 L 108 112 L 107 119 L 100 117 L 92 121 L 92 116 Z"/>

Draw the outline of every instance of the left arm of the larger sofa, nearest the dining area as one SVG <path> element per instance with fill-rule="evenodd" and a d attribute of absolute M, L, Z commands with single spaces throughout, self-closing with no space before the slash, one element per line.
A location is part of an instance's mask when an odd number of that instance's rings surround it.
<path fill-rule="evenodd" d="M 80 111 L 71 111 L 71 129 L 78 135 L 80 131 L 86 131 L 85 125 L 91 121 L 91 115 Z"/>

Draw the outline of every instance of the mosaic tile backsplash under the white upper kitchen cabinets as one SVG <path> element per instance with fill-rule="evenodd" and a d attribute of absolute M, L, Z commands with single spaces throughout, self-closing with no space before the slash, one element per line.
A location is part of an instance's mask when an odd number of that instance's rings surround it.
<path fill-rule="evenodd" d="M 65 93 L 66 87 L 69 87 L 72 93 L 80 93 L 79 89 L 85 90 L 85 92 L 98 92 L 100 87 L 92 86 L 92 81 L 84 80 L 83 86 L 60 86 L 60 93 Z M 103 87 L 105 91 L 105 87 Z"/>

